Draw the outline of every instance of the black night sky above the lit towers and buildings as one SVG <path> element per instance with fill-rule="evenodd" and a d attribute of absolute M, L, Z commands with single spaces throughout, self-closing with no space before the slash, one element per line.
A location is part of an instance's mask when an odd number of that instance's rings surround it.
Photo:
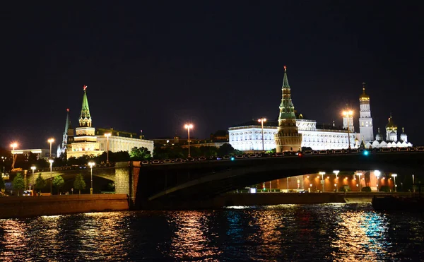
<path fill-rule="evenodd" d="M 341 125 L 347 103 L 358 116 L 366 82 L 375 132 L 392 114 L 424 145 L 423 6 L 412 2 L 2 4 L 0 146 L 61 141 L 66 108 L 77 125 L 83 85 L 93 126 L 146 138 L 187 136 L 188 121 L 206 138 L 276 119 L 284 65 L 308 119 Z"/>

